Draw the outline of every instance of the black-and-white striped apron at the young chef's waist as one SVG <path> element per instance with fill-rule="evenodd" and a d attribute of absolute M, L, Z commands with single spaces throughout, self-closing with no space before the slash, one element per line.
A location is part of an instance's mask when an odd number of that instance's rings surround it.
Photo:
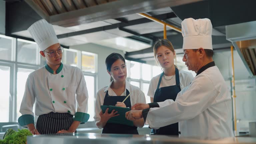
<path fill-rule="evenodd" d="M 73 120 L 73 115 L 69 113 L 51 112 L 38 117 L 36 129 L 40 134 L 55 134 L 60 130 L 68 130 Z"/>

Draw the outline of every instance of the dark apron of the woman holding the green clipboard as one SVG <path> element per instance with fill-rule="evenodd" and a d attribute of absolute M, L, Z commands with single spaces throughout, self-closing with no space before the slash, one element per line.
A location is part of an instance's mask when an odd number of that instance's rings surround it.
<path fill-rule="evenodd" d="M 126 96 L 129 95 L 129 91 L 126 89 Z M 115 106 L 117 102 L 122 102 L 126 96 L 108 96 L 108 91 L 106 92 L 103 105 Z M 124 104 L 126 107 L 131 108 L 131 99 L 128 97 Z M 127 126 L 122 124 L 106 123 L 102 133 L 112 133 L 112 134 L 139 134 L 137 127 Z"/>

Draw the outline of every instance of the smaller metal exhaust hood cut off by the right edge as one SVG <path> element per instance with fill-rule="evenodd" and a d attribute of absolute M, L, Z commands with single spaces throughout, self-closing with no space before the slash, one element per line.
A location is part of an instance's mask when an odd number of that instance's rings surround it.
<path fill-rule="evenodd" d="M 226 26 L 231 41 L 251 76 L 256 76 L 256 21 Z"/>

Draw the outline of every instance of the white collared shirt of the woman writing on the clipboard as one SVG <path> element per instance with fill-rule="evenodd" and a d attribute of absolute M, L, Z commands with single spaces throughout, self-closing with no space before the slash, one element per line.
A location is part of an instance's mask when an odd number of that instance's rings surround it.
<path fill-rule="evenodd" d="M 104 98 L 106 95 L 106 92 L 108 91 L 108 96 L 117 96 L 116 93 L 111 89 L 111 84 L 113 81 L 110 82 L 108 86 L 105 86 L 101 88 L 97 94 L 96 94 L 96 101 L 95 101 L 95 114 L 94 114 L 94 120 L 95 123 L 100 121 L 100 106 L 104 103 Z M 146 98 L 144 93 L 140 90 L 140 88 L 131 85 L 127 80 L 125 81 L 125 89 L 129 91 L 131 94 L 130 100 L 131 100 L 131 106 L 133 106 L 136 103 L 146 103 Z M 121 96 L 126 96 L 126 90 L 121 94 Z"/>

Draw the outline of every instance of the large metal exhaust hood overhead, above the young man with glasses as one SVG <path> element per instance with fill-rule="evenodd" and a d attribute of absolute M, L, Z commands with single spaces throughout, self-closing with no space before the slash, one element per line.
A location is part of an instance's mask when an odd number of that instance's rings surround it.
<path fill-rule="evenodd" d="M 203 0 L 25 0 L 49 23 L 71 27 Z"/>

